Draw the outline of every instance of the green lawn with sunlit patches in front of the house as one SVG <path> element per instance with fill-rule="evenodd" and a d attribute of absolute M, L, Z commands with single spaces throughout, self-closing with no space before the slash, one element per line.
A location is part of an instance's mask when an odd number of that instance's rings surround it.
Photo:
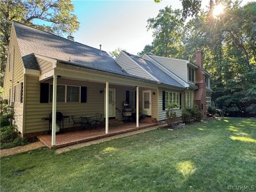
<path fill-rule="evenodd" d="M 256 119 L 223 118 L 63 154 L 1 158 L 1 191 L 228 191 L 256 186 Z"/>

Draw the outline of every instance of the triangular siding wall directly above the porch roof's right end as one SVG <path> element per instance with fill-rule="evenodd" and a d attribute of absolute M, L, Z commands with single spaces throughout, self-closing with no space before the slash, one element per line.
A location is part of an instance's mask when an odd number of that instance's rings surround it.
<path fill-rule="evenodd" d="M 152 76 L 150 76 L 143 68 L 134 63 L 124 52 L 121 52 L 118 56 L 116 63 L 120 65 L 124 70 L 134 76 L 143 77 L 150 80 L 155 80 Z"/>

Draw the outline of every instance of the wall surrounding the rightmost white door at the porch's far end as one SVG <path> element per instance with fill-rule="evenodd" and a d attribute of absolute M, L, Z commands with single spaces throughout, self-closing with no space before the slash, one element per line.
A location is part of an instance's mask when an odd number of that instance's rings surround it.
<path fill-rule="evenodd" d="M 142 92 L 143 90 L 150 90 L 148 88 L 140 88 L 139 91 L 140 91 L 140 95 L 139 95 L 139 100 L 140 100 L 140 104 L 139 104 L 139 108 L 140 108 L 140 115 L 143 114 L 143 95 L 142 95 Z M 156 95 L 153 95 L 152 93 L 155 92 Z M 152 89 L 151 90 L 151 109 L 152 109 L 152 115 L 151 117 L 152 118 L 156 118 L 156 120 L 159 120 L 159 115 L 158 115 L 158 106 L 157 106 L 157 103 L 158 103 L 158 95 L 157 95 L 157 90 L 155 89 Z"/>

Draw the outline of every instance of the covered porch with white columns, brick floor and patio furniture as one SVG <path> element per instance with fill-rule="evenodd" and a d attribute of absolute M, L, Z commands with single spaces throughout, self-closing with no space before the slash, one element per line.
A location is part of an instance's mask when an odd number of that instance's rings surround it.
<path fill-rule="evenodd" d="M 131 77 L 95 72 L 95 70 L 73 67 L 63 63 L 54 63 L 54 61 L 52 65 L 54 67 L 51 71 L 39 77 L 41 85 L 48 84 L 49 93 L 46 93 L 46 95 L 49 96 L 42 99 L 45 102 L 40 102 L 37 106 L 38 109 L 40 106 L 45 109 L 40 111 L 41 118 L 49 116 L 49 113 L 52 114 L 51 134 L 38 136 L 47 147 L 63 147 L 156 125 L 141 123 L 140 118 L 141 116 L 150 116 L 156 121 L 158 120 L 157 84 L 138 81 L 138 79 Z M 58 86 L 62 86 L 63 93 Z M 76 90 L 78 90 L 78 93 Z M 73 91 L 78 96 L 72 96 Z M 65 96 L 61 98 L 61 94 Z M 42 95 L 44 97 L 44 93 L 40 93 L 40 97 Z M 124 102 L 129 102 L 129 106 L 133 108 L 132 113 L 135 117 L 133 122 L 129 122 L 129 118 L 124 115 Z M 65 131 L 65 133 L 56 134 L 56 112 L 58 111 L 65 116 L 76 115 L 78 117 L 100 113 L 102 114 L 104 127 L 93 127 L 81 131 Z M 29 111 L 29 113 L 32 113 L 32 111 Z M 109 119 L 111 118 L 129 123 L 110 127 Z M 63 121 L 65 122 L 64 129 L 73 126 L 71 118 Z M 40 122 L 40 127 L 44 130 L 45 125 L 48 127 L 47 122 Z"/>

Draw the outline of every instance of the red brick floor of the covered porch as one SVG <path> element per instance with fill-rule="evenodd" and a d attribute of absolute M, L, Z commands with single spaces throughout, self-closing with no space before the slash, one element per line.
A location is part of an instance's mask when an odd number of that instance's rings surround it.
<path fill-rule="evenodd" d="M 86 141 L 97 140 L 100 138 L 106 138 L 108 136 L 113 136 L 116 134 L 121 134 L 124 132 L 131 132 L 140 129 L 145 129 L 147 127 L 153 127 L 158 124 L 143 124 L 140 123 L 140 127 L 136 127 L 134 123 L 125 123 L 123 125 L 119 125 L 116 127 L 109 127 L 109 133 L 105 134 L 105 128 L 95 128 L 90 130 L 80 130 L 73 132 L 65 132 L 61 134 L 56 134 L 56 145 L 51 145 L 51 134 L 44 134 L 38 136 L 38 140 L 40 140 L 44 145 L 49 148 L 60 148 L 66 147 L 68 145 L 74 145 L 77 143 L 83 143 Z"/>

